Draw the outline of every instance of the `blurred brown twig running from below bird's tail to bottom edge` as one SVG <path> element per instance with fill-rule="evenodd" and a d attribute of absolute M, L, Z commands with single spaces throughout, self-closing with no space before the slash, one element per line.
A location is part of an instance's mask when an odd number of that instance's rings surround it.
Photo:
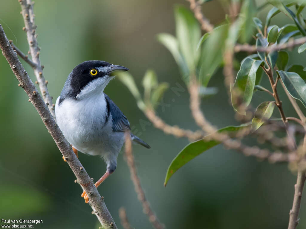
<path fill-rule="evenodd" d="M 144 190 L 141 187 L 140 179 L 137 175 L 134 156 L 133 156 L 133 153 L 132 153 L 132 141 L 131 141 L 129 131 L 125 132 L 125 157 L 126 157 L 126 160 L 127 160 L 127 164 L 129 165 L 129 169 L 130 169 L 130 173 L 131 173 L 131 179 L 133 181 L 138 200 L 142 204 L 144 213 L 148 216 L 149 221 L 151 222 L 151 224 L 154 228 L 156 228 L 156 229 L 165 228 L 164 225 L 159 222 L 155 213 L 151 209 L 150 203 L 147 201 L 146 196 L 144 194 Z"/>

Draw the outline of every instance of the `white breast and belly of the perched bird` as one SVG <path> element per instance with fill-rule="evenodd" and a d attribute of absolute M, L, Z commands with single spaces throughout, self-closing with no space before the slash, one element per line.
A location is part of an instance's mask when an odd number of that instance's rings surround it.
<path fill-rule="evenodd" d="M 85 154 L 101 155 L 105 159 L 117 158 L 124 142 L 124 133 L 113 132 L 111 115 L 105 123 L 107 110 L 104 94 L 90 100 L 65 98 L 60 105 L 59 98 L 55 104 L 56 120 L 69 143 Z"/>

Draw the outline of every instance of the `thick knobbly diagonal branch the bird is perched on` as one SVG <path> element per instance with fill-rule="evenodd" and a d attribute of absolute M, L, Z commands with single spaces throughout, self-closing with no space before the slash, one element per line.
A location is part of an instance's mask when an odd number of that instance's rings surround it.
<path fill-rule="evenodd" d="M 2 50 L 3 56 L 9 63 L 14 75 L 19 81 L 19 86 L 21 86 L 24 91 L 29 96 L 29 101 L 34 105 L 35 109 L 39 113 L 41 119 L 46 125 L 50 135 L 54 139 L 58 149 L 61 151 L 62 155 L 66 158 L 68 165 L 76 176 L 78 182 L 82 185 L 84 190 L 89 196 L 89 200 L 95 209 L 95 213 L 102 224 L 103 227 L 117 228 L 112 216 L 110 215 L 106 205 L 101 199 L 101 196 L 94 185 L 94 182 L 88 176 L 84 167 L 80 163 L 79 159 L 76 157 L 72 151 L 69 143 L 65 139 L 58 125 L 56 124 L 54 118 L 52 117 L 47 105 L 43 101 L 40 94 L 37 92 L 35 85 L 31 81 L 28 73 L 24 70 L 24 67 L 20 63 L 16 53 L 9 44 L 3 28 L 0 24 L 0 48 Z"/>

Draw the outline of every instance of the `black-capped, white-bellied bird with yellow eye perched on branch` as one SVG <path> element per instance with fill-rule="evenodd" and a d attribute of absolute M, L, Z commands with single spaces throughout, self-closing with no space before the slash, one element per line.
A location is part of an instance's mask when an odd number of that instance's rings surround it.
<path fill-rule="evenodd" d="M 117 157 L 124 144 L 125 131 L 131 140 L 150 146 L 130 132 L 130 123 L 119 107 L 104 93 L 118 71 L 129 69 L 102 60 L 88 60 L 69 74 L 55 103 L 58 127 L 73 146 L 74 153 L 100 155 L 106 172 L 95 183 L 98 187 L 117 168 Z M 88 203 L 85 191 L 81 195 Z"/>

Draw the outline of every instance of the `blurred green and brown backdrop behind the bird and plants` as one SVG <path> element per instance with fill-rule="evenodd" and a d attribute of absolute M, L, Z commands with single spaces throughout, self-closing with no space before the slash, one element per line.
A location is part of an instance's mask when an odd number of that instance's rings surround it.
<path fill-rule="evenodd" d="M 170 87 L 179 83 L 185 88 L 171 54 L 156 40 L 160 32 L 175 34 L 175 4 L 188 7 L 183 0 L 36 1 L 40 58 L 54 102 L 70 71 L 85 60 L 106 60 L 128 67 L 140 90 L 141 79 L 149 68 L 157 72 L 159 81 L 169 82 Z M 9 39 L 26 53 L 28 44 L 20 10 L 17 0 L 1 0 L 0 23 Z M 265 21 L 268 10 L 258 17 Z M 203 12 L 213 24 L 222 22 L 225 16 L 218 1 L 206 3 Z M 272 24 L 278 26 L 289 22 L 282 14 L 272 19 Z M 291 64 L 303 64 L 305 54 L 298 56 L 295 50 L 290 53 Z M 27 64 L 24 67 L 35 81 L 32 69 Z M 80 197 L 82 190 L 74 183 L 73 173 L 2 55 L 0 70 L 0 218 L 43 220 L 35 228 L 99 228 L 91 208 Z M 263 85 L 267 83 L 263 79 Z M 206 117 L 218 127 L 238 124 L 228 103 L 222 70 L 209 86 L 218 87 L 218 94 L 202 100 Z M 168 165 L 188 141 L 155 129 L 121 82 L 112 81 L 105 92 L 129 118 L 134 133 L 151 145 L 150 150 L 138 145 L 133 150 L 146 196 L 167 228 L 287 227 L 296 181 L 288 165 L 259 162 L 217 146 L 182 167 L 163 187 Z M 285 94 L 280 96 L 285 114 L 294 116 Z M 265 99 L 265 95 L 256 93 L 252 104 L 256 107 Z M 180 96 L 168 90 L 163 98 L 168 105 L 164 109 L 157 107 L 157 112 L 171 125 L 195 130 L 188 100 L 186 88 Z M 278 117 L 276 109 L 274 116 Z M 250 144 L 256 144 L 256 139 Z M 95 180 L 105 172 L 99 157 L 80 154 L 80 161 Z M 119 228 L 121 206 L 126 208 L 133 228 L 151 228 L 122 152 L 117 170 L 99 192 Z M 306 227 L 305 216 L 303 197 L 299 228 Z"/>

